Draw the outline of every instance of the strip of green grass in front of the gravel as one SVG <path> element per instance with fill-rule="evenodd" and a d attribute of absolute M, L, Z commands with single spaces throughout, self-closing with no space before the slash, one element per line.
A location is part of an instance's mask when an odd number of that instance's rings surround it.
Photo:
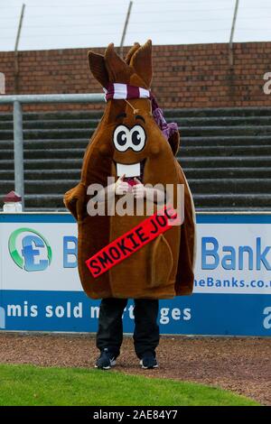
<path fill-rule="evenodd" d="M 232 392 L 116 371 L 0 365 L 0 406 L 257 405 Z"/>

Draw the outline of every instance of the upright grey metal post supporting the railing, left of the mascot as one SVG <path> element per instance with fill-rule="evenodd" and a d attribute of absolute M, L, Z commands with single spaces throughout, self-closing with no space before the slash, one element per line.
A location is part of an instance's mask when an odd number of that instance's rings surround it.
<path fill-rule="evenodd" d="M 24 176 L 23 176 L 23 112 L 18 100 L 14 101 L 14 177 L 15 191 L 22 197 L 24 209 Z"/>

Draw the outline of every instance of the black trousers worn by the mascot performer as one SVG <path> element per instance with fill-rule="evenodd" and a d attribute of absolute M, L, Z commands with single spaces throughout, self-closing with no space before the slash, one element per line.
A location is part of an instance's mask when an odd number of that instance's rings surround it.
<path fill-rule="evenodd" d="M 123 340 L 122 314 L 127 299 L 107 298 L 100 302 L 98 333 L 96 346 L 99 350 L 107 347 L 115 357 L 119 355 Z M 158 300 L 135 299 L 135 354 L 142 358 L 145 353 L 155 355 L 159 344 L 159 326 L 157 325 Z"/>

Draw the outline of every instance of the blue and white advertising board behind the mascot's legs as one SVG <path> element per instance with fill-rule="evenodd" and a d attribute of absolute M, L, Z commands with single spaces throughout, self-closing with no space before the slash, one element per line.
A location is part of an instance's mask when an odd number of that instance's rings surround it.
<path fill-rule="evenodd" d="M 271 336 L 270 224 L 269 214 L 197 215 L 194 292 L 160 300 L 161 334 Z M 0 214 L 0 253 L 2 331 L 96 332 L 99 300 L 81 289 L 70 214 Z"/>

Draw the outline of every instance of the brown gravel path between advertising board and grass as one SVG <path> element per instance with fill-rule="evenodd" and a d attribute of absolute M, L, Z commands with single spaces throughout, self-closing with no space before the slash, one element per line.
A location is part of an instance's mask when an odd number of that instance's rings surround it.
<path fill-rule="evenodd" d="M 92 367 L 93 336 L 0 334 L 1 364 Z M 162 336 L 160 367 L 139 368 L 133 340 L 125 337 L 116 370 L 220 386 L 271 405 L 271 339 Z"/>

